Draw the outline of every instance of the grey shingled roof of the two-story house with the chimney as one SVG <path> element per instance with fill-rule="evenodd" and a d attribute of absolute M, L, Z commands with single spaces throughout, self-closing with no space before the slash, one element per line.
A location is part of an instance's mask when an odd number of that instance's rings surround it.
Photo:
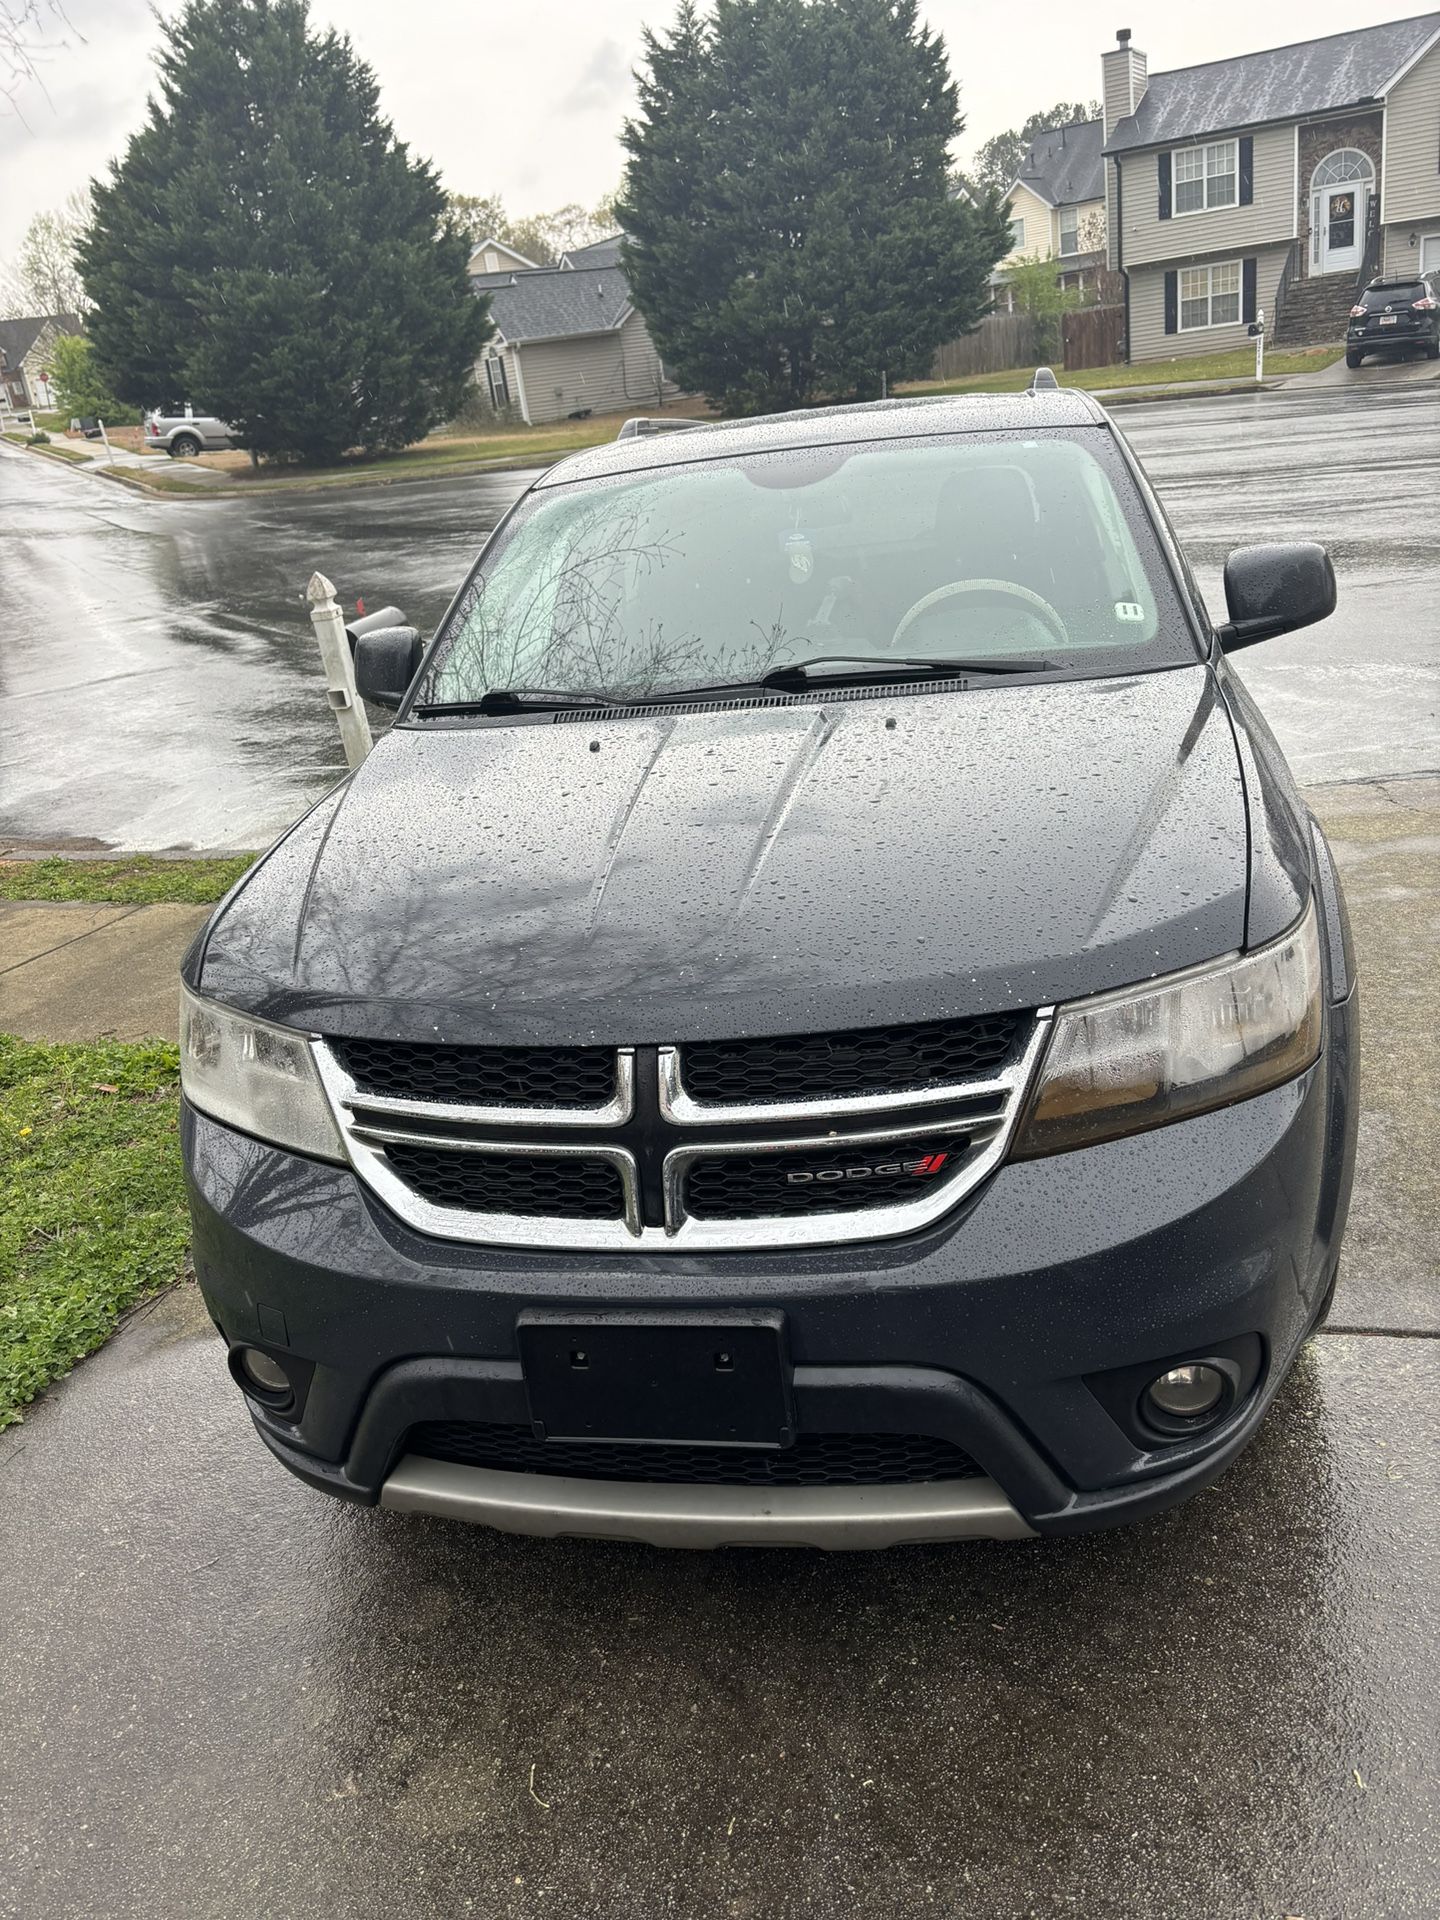
<path fill-rule="evenodd" d="M 1108 154 L 1290 121 L 1380 100 L 1440 33 L 1440 13 L 1354 27 L 1323 40 L 1150 75 L 1144 100 L 1110 134 Z"/>

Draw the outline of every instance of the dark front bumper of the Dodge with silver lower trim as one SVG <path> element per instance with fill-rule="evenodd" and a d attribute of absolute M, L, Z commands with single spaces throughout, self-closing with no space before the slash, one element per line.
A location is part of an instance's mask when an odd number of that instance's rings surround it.
<path fill-rule="evenodd" d="M 348 1169 L 186 1110 L 196 1271 L 227 1342 L 313 1363 L 292 1419 L 255 1400 L 252 1415 L 276 1457 L 342 1498 L 662 1544 L 1075 1532 L 1187 1498 L 1263 1419 L 1338 1256 L 1352 1029 L 1354 998 L 1329 1010 L 1319 1064 L 1288 1087 L 1008 1164 L 908 1240 L 789 1254 L 641 1263 L 445 1244 L 405 1229 Z M 678 1488 L 407 1457 L 420 1423 L 528 1421 L 515 1332 L 526 1308 L 618 1304 L 780 1308 L 803 1432 L 925 1434 L 981 1476 Z M 1204 1436 L 1146 1442 L 1108 1409 L 1104 1375 L 1246 1340 L 1246 1392 Z"/>

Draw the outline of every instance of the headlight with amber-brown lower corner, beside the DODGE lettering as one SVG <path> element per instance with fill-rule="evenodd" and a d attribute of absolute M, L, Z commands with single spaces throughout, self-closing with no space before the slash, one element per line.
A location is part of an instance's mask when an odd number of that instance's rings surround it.
<path fill-rule="evenodd" d="M 1062 1006 L 1012 1154 L 1062 1154 L 1246 1100 L 1304 1073 L 1319 1048 L 1311 900 L 1238 960 Z"/>

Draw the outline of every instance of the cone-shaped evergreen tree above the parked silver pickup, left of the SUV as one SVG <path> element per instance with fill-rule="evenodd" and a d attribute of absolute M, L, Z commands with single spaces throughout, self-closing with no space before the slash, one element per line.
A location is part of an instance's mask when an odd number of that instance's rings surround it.
<path fill-rule="evenodd" d="M 188 0 L 81 242 L 121 399 L 194 399 L 259 453 L 334 461 L 459 411 L 490 334 L 428 161 L 305 0 Z"/>

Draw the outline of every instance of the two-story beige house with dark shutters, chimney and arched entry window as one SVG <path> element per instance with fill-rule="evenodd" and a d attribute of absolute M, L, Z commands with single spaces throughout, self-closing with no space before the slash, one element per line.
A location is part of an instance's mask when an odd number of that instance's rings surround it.
<path fill-rule="evenodd" d="M 1173 73 L 1102 56 L 1106 228 L 1133 361 L 1342 340 L 1356 288 L 1440 269 L 1440 13 Z"/>

